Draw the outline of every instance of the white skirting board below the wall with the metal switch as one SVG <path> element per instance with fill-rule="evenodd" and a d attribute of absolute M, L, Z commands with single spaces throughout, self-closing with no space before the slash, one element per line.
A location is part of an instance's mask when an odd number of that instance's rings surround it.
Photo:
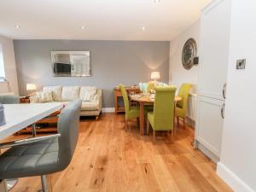
<path fill-rule="evenodd" d="M 253 192 L 246 183 L 244 183 L 234 172 L 231 172 L 224 164 L 218 162 L 217 174 L 221 177 L 225 183 L 230 185 L 230 188 L 236 192 Z"/>

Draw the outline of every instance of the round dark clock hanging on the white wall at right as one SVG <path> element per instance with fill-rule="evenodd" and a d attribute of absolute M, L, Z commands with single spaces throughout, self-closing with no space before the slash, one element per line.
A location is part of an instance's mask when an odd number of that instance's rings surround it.
<path fill-rule="evenodd" d="M 194 58 L 197 54 L 197 46 L 194 38 L 189 38 L 183 46 L 183 67 L 189 70 L 194 65 Z"/>

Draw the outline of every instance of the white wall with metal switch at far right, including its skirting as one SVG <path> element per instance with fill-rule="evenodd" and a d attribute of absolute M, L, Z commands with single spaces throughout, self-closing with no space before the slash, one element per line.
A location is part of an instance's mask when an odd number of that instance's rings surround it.
<path fill-rule="evenodd" d="M 218 175 L 235 191 L 256 191 L 256 1 L 233 0 L 224 132 Z M 245 70 L 236 60 L 246 58 Z"/>

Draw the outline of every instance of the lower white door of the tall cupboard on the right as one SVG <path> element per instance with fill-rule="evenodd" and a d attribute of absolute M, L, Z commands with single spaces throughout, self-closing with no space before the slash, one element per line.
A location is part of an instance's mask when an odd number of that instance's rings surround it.
<path fill-rule="evenodd" d="M 219 157 L 222 127 L 224 122 L 224 101 L 198 96 L 195 137 L 213 154 Z"/>

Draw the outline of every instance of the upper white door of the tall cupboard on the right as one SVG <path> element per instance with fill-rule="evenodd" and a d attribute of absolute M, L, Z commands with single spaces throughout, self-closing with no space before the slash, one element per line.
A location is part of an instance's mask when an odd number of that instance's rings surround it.
<path fill-rule="evenodd" d="M 230 0 L 213 1 L 201 14 L 198 95 L 224 99 L 229 38 Z"/>

